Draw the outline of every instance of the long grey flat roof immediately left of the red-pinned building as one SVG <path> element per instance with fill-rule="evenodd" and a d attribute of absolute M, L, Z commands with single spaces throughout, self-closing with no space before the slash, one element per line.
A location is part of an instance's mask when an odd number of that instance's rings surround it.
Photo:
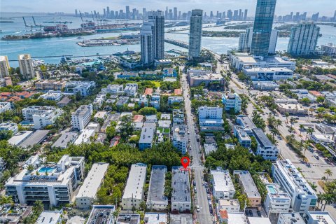
<path fill-rule="evenodd" d="M 151 181 L 149 183 L 147 204 L 151 202 L 167 202 L 168 199 L 164 195 L 165 176 L 167 173 L 166 166 L 153 166 L 151 172 Z"/>

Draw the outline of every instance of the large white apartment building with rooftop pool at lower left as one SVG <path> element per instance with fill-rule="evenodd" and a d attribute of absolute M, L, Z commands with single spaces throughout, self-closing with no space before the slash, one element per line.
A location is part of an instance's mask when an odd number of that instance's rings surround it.
<path fill-rule="evenodd" d="M 60 202 L 70 203 L 84 176 L 84 158 L 63 155 L 57 164 L 41 164 L 43 162 L 38 162 L 38 167 L 31 172 L 25 167 L 19 174 L 10 177 L 5 184 L 6 195 L 20 204 L 36 200 L 52 206 Z"/>

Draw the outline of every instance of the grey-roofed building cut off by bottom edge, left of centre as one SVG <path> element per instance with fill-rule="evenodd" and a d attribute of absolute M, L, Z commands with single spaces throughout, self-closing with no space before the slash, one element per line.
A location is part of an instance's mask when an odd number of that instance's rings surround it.
<path fill-rule="evenodd" d="M 93 205 L 87 224 L 113 224 L 116 221 L 114 205 Z"/>

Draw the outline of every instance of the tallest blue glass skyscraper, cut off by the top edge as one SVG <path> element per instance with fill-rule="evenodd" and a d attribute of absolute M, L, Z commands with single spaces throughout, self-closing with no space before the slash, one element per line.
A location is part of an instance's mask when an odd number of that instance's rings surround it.
<path fill-rule="evenodd" d="M 251 55 L 267 56 L 276 0 L 258 0 L 255 9 Z"/>

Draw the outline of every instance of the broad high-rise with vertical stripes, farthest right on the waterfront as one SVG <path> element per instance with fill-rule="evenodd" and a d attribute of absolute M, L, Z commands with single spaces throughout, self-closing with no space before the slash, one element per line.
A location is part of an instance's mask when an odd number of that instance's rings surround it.
<path fill-rule="evenodd" d="M 300 22 L 290 30 L 288 53 L 291 55 L 310 55 L 316 49 L 320 27 L 314 22 Z"/>

